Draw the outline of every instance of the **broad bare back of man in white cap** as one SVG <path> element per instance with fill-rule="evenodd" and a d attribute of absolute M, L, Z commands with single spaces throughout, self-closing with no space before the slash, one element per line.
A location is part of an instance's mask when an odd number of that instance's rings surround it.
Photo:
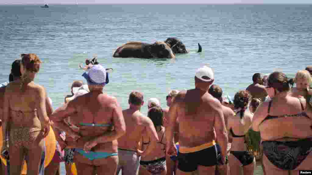
<path fill-rule="evenodd" d="M 217 99 L 208 92 L 201 96 L 194 89 L 180 93 L 175 99 L 178 103 L 180 145 L 194 147 L 211 142 Z"/>

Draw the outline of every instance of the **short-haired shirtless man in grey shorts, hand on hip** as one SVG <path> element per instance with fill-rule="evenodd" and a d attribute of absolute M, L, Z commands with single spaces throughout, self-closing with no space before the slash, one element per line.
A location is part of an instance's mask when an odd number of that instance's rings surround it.
<path fill-rule="evenodd" d="M 123 174 L 137 175 L 139 173 L 140 157 L 149 154 L 158 142 L 158 134 L 151 119 L 141 112 L 143 94 L 133 91 L 129 95 L 129 109 L 122 111 L 126 123 L 126 134 L 118 139 L 119 165 L 116 175 L 122 170 Z M 150 139 L 149 147 L 144 152 L 138 152 L 142 134 L 147 132 Z"/>

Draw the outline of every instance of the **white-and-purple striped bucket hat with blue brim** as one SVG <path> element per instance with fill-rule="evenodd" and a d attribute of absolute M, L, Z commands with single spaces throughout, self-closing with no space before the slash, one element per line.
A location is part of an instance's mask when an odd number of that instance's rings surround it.
<path fill-rule="evenodd" d="M 90 85 L 102 85 L 104 86 L 109 82 L 108 73 L 102 65 L 97 64 L 92 66 L 90 71 L 83 73 L 82 76 L 87 80 Z"/>

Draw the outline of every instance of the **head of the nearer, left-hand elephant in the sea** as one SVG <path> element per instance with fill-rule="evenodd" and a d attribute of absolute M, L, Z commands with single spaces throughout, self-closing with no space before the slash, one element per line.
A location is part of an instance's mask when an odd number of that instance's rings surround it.
<path fill-rule="evenodd" d="M 153 57 L 175 58 L 173 51 L 165 42 L 156 41 L 154 44 L 149 46 L 148 50 Z"/>

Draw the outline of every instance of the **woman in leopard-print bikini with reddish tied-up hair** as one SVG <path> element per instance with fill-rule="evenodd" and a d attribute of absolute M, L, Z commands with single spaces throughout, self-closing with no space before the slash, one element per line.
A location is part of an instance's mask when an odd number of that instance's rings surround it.
<path fill-rule="evenodd" d="M 49 133 L 50 120 L 46 111 L 46 90 L 34 83 L 41 61 L 36 54 L 22 54 L 22 77 L 9 83 L 4 94 L 2 151 L 9 150 L 10 174 L 21 174 L 24 159 L 27 174 L 37 175 L 44 150 L 44 137 Z M 10 128 L 10 130 L 8 130 Z"/>

